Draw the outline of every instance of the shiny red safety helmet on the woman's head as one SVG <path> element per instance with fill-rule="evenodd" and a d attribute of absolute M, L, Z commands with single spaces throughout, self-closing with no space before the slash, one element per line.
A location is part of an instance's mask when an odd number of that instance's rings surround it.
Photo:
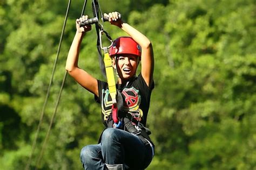
<path fill-rule="evenodd" d="M 110 56 L 116 54 L 133 54 L 142 55 L 142 48 L 131 37 L 119 37 L 113 41 L 113 45 L 109 49 Z"/>

